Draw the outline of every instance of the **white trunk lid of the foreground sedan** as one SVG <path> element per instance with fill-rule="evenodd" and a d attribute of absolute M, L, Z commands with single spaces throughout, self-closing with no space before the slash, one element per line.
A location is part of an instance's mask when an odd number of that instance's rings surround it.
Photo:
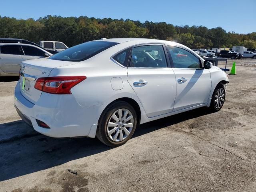
<path fill-rule="evenodd" d="M 20 92 L 30 102 L 36 103 L 42 91 L 34 88 L 36 80 L 48 77 L 52 69 L 76 64 L 77 62 L 51 60 L 48 58 L 26 60 L 21 63 Z"/>

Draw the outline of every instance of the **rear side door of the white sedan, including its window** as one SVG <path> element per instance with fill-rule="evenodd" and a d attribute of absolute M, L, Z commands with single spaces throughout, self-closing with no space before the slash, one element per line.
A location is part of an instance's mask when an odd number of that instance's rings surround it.
<path fill-rule="evenodd" d="M 162 44 L 132 48 L 127 80 L 148 117 L 170 113 L 176 96 L 175 74 Z"/>

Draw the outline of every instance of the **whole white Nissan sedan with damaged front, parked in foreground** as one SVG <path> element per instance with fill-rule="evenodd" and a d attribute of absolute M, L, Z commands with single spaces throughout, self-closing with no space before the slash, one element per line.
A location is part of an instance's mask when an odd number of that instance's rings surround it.
<path fill-rule="evenodd" d="M 184 45 L 101 39 L 22 62 L 14 104 L 46 136 L 97 136 L 119 146 L 138 124 L 203 106 L 220 110 L 228 82 L 224 71 Z"/>

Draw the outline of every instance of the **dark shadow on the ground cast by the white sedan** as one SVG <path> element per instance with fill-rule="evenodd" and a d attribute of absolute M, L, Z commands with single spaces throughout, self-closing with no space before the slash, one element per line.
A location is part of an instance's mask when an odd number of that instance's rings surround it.
<path fill-rule="evenodd" d="M 209 113 L 205 108 L 199 108 L 148 122 L 138 126 L 131 139 Z M 6 132 L 3 130 L 7 128 L 16 129 L 15 132 L 20 130 L 23 134 L 16 133 L 16 136 L 0 142 L 0 181 L 52 168 L 71 160 L 112 149 L 93 138 L 50 138 L 37 133 L 22 121 L 0 124 L 0 136 L 7 134 L 3 133 Z M 12 130 L 10 132 L 14 133 Z"/>

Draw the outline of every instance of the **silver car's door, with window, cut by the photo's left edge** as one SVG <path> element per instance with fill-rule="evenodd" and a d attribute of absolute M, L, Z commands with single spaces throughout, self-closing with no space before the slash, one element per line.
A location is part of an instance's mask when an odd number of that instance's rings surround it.
<path fill-rule="evenodd" d="M 23 55 L 20 45 L 0 46 L 0 68 L 5 73 L 19 74 Z"/>

